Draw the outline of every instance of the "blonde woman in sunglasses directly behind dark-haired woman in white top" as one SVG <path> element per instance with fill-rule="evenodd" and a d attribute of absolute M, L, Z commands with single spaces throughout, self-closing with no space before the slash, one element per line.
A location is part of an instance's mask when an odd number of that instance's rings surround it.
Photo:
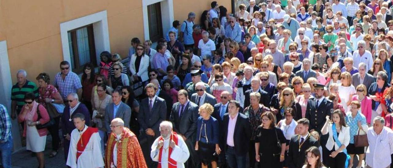
<path fill-rule="evenodd" d="M 295 102 L 295 95 L 292 89 L 285 88 L 280 94 L 280 107 L 278 113 L 276 114 L 277 122 L 285 118 L 284 112 L 286 108 L 293 109 L 293 117 L 295 121 L 302 118 L 301 106 L 299 103 Z"/>

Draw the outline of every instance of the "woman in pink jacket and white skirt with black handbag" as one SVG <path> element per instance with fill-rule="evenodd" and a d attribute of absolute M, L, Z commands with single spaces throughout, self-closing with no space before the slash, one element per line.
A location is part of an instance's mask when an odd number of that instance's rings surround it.
<path fill-rule="evenodd" d="M 24 97 L 25 105 L 18 116 L 19 122 L 24 122 L 23 137 L 26 137 L 26 150 L 35 152 L 39 168 L 44 168 L 44 150 L 47 128 L 37 129 L 36 125 L 49 122 L 48 111 L 42 104 L 35 102 L 35 95 L 27 93 Z"/>

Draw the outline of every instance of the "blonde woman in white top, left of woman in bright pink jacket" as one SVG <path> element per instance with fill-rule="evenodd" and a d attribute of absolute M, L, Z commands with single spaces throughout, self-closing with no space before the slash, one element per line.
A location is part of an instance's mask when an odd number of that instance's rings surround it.
<path fill-rule="evenodd" d="M 351 83 L 351 73 L 343 72 L 341 74 L 341 84 L 338 85 L 338 95 L 345 112 L 348 111 L 347 107 L 351 104 L 352 96 L 356 94 L 356 89 Z"/>

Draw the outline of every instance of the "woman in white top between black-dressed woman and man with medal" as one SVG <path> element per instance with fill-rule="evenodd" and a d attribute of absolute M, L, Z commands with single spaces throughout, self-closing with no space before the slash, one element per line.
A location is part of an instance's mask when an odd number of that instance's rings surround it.
<path fill-rule="evenodd" d="M 286 108 L 284 111 L 285 119 L 282 119 L 278 122 L 277 126 L 283 131 L 284 137 L 286 139 L 286 147 L 285 147 L 285 155 L 288 153 L 289 142 L 291 141 L 292 136 L 294 136 L 295 128 L 298 125 L 298 122 L 294 120 L 294 110 L 292 108 Z M 284 167 L 286 162 L 284 161 Z"/>

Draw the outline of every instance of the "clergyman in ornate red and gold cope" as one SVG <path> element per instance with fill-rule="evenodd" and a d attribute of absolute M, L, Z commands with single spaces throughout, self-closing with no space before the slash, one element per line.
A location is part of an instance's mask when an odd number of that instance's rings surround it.
<path fill-rule="evenodd" d="M 138 139 L 129 128 L 124 127 L 124 121 L 120 118 L 113 119 L 110 130 L 112 133 L 105 151 L 105 167 L 147 168 Z"/>

